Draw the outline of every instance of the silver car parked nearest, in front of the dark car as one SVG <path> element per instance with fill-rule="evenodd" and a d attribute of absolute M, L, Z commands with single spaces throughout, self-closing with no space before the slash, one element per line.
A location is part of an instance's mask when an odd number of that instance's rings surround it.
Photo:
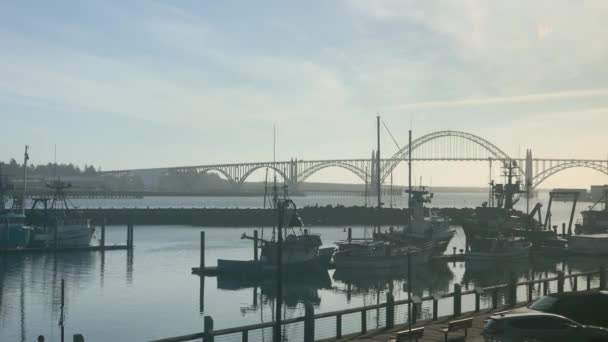
<path fill-rule="evenodd" d="M 530 310 L 492 315 L 481 332 L 485 342 L 600 342 L 608 329 L 582 325 L 566 317 Z"/>

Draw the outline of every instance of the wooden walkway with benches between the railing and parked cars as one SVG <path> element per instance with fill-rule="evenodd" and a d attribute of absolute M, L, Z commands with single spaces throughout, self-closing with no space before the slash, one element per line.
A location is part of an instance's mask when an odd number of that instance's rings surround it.
<path fill-rule="evenodd" d="M 523 305 L 523 304 L 522 304 Z M 487 319 L 492 313 L 502 312 L 509 310 L 509 308 L 499 308 L 496 310 L 482 310 L 478 313 L 464 313 L 458 318 L 444 317 L 437 321 L 423 321 L 412 326 L 412 328 L 424 327 L 424 337 L 418 339 L 419 342 L 443 342 L 444 335 L 440 331 L 447 323 L 451 320 L 464 319 L 473 317 L 473 328 L 469 329 L 468 337 L 464 338 L 464 330 L 456 331 L 448 334 L 448 341 L 466 341 L 466 342 L 482 342 L 481 330 L 483 328 L 483 321 Z M 407 330 L 408 326 L 397 325 L 391 330 L 375 330 L 365 335 L 350 335 L 339 339 L 340 342 L 386 342 L 390 337 L 394 336 L 397 331 Z M 412 339 L 412 341 L 414 341 Z"/>

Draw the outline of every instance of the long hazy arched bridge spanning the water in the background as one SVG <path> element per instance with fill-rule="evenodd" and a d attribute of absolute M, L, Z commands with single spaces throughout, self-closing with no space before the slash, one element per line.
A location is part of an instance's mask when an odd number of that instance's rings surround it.
<path fill-rule="evenodd" d="M 387 181 L 399 163 L 407 162 L 410 147 L 405 146 L 390 158 L 380 159 L 380 178 Z M 507 153 L 490 141 L 477 135 L 461 131 L 438 131 L 423 135 L 412 141 L 412 160 L 414 161 L 477 161 L 477 162 L 506 162 L 514 160 L 517 163 L 519 181 L 530 187 L 537 188 L 552 175 L 574 167 L 584 167 L 597 170 L 608 175 L 608 160 L 602 159 L 556 159 L 533 158 L 530 150 L 526 158 L 511 158 Z M 102 172 L 109 176 L 125 176 L 139 174 L 155 178 L 169 172 L 205 173 L 218 172 L 236 188 L 240 187 L 256 170 L 275 170 L 287 183 L 297 187 L 310 176 L 326 168 L 338 167 L 350 171 L 366 184 L 375 182 L 377 157 L 372 152 L 370 158 L 362 159 L 329 159 L 301 160 L 291 159 L 277 162 L 232 163 L 197 166 L 180 166 L 170 168 L 152 168 L 137 170 L 114 170 Z"/>

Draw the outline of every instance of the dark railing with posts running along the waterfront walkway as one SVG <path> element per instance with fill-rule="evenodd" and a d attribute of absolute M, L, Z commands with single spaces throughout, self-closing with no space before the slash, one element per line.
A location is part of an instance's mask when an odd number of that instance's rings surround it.
<path fill-rule="evenodd" d="M 599 278 L 599 282 L 597 286 L 593 286 L 593 278 Z M 579 279 L 583 279 L 582 284 L 579 284 Z M 499 306 L 504 307 L 514 307 L 521 301 L 518 301 L 518 289 L 520 287 L 525 287 L 526 298 L 525 302 L 530 303 L 534 298 L 534 293 L 540 295 L 547 295 L 549 293 L 561 293 L 565 291 L 566 280 L 570 280 L 570 291 L 585 291 L 585 290 L 594 290 L 594 289 L 606 289 L 606 268 L 604 266 L 600 267 L 597 271 L 592 272 L 581 272 L 581 273 L 573 273 L 573 274 L 564 274 L 563 272 L 557 272 L 557 276 L 548 277 L 548 278 L 540 278 L 534 280 L 527 280 L 522 282 L 517 282 L 516 279 L 512 279 L 506 284 L 499 284 L 490 287 L 477 288 L 473 290 L 462 291 L 460 284 L 454 284 L 454 292 L 433 295 L 433 296 L 425 296 L 420 299 L 412 298 L 411 303 L 411 323 L 417 323 L 417 317 L 421 314 L 421 309 L 423 303 L 432 303 L 432 316 L 429 323 L 432 321 L 438 320 L 439 317 L 439 301 L 446 298 L 452 298 L 452 314 L 447 317 L 458 317 L 463 314 L 462 312 L 462 297 L 474 295 L 474 303 L 475 308 L 472 311 L 468 311 L 469 313 L 475 312 L 478 313 L 480 310 L 484 309 L 481 307 L 481 299 L 487 299 L 489 297 L 490 305 L 486 307 L 487 309 L 498 309 Z M 552 285 L 556 285 L 556 289 L 552 291 Z M 504 297 L 504 304 L 499 304 L 499 292 L 506 292 Z M 537 296 L 537 297 L 538 297 Z M 407 306 L 410 303 L 410 299 L 398 300 L 395 301 L 392 293 L 387 293 L 386 302 L 368 305 L 365 307 L 357 307 L 350 308 L 345 310 L 331 311 L 315 314 L 314 309 L 311 304 L 305 304 L 305 315 L 296 318 L 285 319 L 282 323 L 283 326 L 293 325 L 296 323 L 303 322 L 304 324 L 304 333 L 303 340 L 304 342 L 314 342 L 315 341 L 315 328 L 317 326 L 317 321 L 324 320 L 325 322 L 329 320 L 334 321 L 334 331 L 333 338 L 338 339 L 347 334 L 343 333 L 343 320 L 344 316 L 347 315 L 357 315 L 359 316 L 358 320 L 360 322 L 358 331 L 354 333 L 365 334 L 369 332 L 369 324 L 368 324 L 368 313 L 376 310 L 377 312 L 381 312 L 383 314 L 384 324 L 382 327 L 376 327 L 374 330 L 378 329 L 392 329 L 396 324 L 407 323 L 410 317 L 405 317 L 405 321 L 399 319 L 400 317 L 396 317 L 395 313 L 399 312 L 399 308 L 401 306 Z M 403 308 L 402 308 L 403 309 Z M 407 314 L 407 311 L 406 311 Z M 444 316 L 446 317 L 446 316 Z M 227 336 L 227 335 L 237 335 L 240 336 L 240 341 L 249 342 L 250 333 L 256 330 L 263 329 L 272 329 L 273 322 L 267 323 L 259 323 L 259 324 L 251 324 L 240 327 L 233 327 L 227 329 L 213 329 L 213 318 L 210 316 L 205 316 L 204 318 L 204 331 L 183 335 L 170 337 L 160 340 L 155 340 L 152 342 L 181 342 L 181 341 L 193 341 L 203 339 L 204 342 L 214 342 L 216 337 L 219 336 Z M 352 334 L 352 332 L 348 333 L 348 335 Z M 272 334 L 269 334 L 269 337 Z M 323 338 L 327 340 L 327 338 Z M 329 339 L 332 339 L 331 337 Z M 270 338 L 269 338 L 270 340 Z"/>

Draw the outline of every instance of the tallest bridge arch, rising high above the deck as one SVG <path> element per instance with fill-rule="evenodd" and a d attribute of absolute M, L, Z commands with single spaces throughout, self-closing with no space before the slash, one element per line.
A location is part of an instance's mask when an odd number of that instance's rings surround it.
<path fill-rule="evenodd" d="M 414 151 L 418 150 L 425 144 L 428 144 L 434 140 L 443 139 L 447 137 L 455 137 L 459 140 L 473 142 L 474 144 L 479 145 L 483 149 L 485 149 L 489 153 L 489 158 L 498 159 L 502 161 L 511 159 L 508 154 L 506 154 L 503 150 L 498 148 L 493 143 L 477 135 L 462 131 L 437 131 L 414 139 L 412 141 L 412 154 Z M 386 178 L 391 174 L 391 172 L 397 167 L 400 162 L 407 160 L 409 156 L 409 150 L 409 145 L 406 145 L 405 147 L 397 151 L 397 153 L 395 153 L 392 158 L 388 160 L 385 165 L 383 165 L 382 172 L 380 174 L 382 182 L 386 181 Z M 524 170 L 521 168 L 520 165 L 518 165 L 517 168 L 519 170 L 518 179 L 522 181 Z"/>

